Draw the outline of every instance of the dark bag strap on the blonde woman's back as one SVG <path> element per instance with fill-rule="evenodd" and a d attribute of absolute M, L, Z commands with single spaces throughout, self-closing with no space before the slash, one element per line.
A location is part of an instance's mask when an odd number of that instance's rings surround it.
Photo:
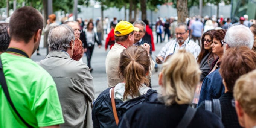
<path fill-rule="evenodd" d="M 176 128 L 187 128 L 193 117 L 195 116 L 197 109 L 194 109 L 192 107 L 187 107 L 187 111 L 184 114 L 183 118 L 180 120 L 179 124 L 176 126 Z"/>

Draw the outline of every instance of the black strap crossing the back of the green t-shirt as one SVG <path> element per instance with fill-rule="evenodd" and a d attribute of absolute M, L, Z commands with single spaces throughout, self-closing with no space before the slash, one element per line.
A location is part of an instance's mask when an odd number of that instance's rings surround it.
<path fill-rule="evenodd" d="M 14 107 L 14 104 L 12 103 L 11 97 L 9 95 L 9 91 L 6 85 L 6 81 L 5 81 L 5 74 L 3 73 L 3 66 L 2 66 L 2 61 L 0 58 L 0 83 L 2 85 L 3 88 L 3 92 L 5 93 L 5 96 L 9 102 L 9 104 L 11 105 L 12 109 L 15 111 L 15 113 L 17 114 L 17 116 L 20 118 L 20 120 L 28 127 L 28 128 L 33 128 L 31 125 L 29 125 L 18 113 L 18 111 L 16 110 L 16 108 Z"/>

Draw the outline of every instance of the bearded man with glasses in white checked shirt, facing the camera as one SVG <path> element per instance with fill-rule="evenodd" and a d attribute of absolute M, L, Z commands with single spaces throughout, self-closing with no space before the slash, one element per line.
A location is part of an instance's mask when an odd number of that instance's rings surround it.
<path fill-rule="evenodd" d="M 166 56 L 178 52 L 179 49 L 185 49 L 192 53 L 195 58 L 200 53 L 200 46 L 189 38 L 187 24 L 178 23 L 175 27 L 176 39 L 168 42 L 158 53 L 156 62 L 161 64 Z"/>

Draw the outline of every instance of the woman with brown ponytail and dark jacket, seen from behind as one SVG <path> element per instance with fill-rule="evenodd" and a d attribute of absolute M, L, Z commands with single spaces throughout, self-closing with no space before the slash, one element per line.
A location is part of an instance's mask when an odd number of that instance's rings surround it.
<path fill-rule="evenodd" d="M 118 119 L 131 107 L 146 101 L 157 99 L 157 92 L 147 87 L 149 80 L 150 56 L 141 46 L 131 46 L 123 50 L 119 61 L 119 77 L 123 78 L 113 88 L 103 91 L 93 107 L 94 128 L 115 128 Z M 111 104 L 111 92 L 114 94 L 116 109 Z M 113 110 L 117 111 L 117 119 Z"/>

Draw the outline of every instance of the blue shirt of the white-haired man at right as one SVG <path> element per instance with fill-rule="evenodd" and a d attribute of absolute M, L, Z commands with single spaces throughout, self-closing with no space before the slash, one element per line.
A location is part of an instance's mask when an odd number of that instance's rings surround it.
<path fill-rule="evenodd" d="M 197 107 L 204 100 L 218 99 L 224 94 L 224 91 L 222 77 L 219 74 L 219 69 L 216 69 L 204 78 Z"/>

